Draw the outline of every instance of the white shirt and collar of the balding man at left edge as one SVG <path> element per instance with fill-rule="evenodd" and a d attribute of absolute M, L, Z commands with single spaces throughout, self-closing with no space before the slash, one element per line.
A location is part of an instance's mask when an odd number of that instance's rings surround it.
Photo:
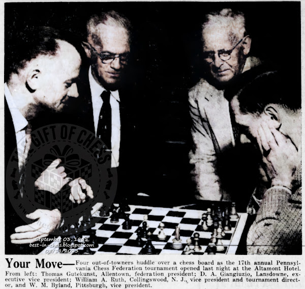
<path fill-rule="evenodd" d="M 9 107 L 9 110 L 11 112 L 11 116 L 13 119 L 15 135 L 16 135 L 16 142 L 17 142 L 17 151 L 18 151 L 18 167 L 19 167 L 19 171 L 20 171 L 24 164 L 25 157 L 26 157 L 24 155 L 25 143 L 26 143 L 25 128 L 26 128 L 28 122 L 24 118 L 24 116 L 21 114 L 21 112 L 17 109 L 14 99 L 12 97 L 12 94 L 6 83 L 4 84 L 4 95 L 5 95 L 5 98 L 8 103 L 8 107 Z"/>

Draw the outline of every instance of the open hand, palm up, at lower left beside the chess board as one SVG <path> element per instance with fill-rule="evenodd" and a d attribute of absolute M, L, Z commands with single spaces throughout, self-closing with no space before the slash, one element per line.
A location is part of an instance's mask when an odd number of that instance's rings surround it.
<path fill-rule="evenodd" d="M 37 209 L 35 212 L 26 215 L 26 218 L 38 220 L 32 224 L 15 228 L 16 233 L 11 235 L 11 242 L 13 244 L 34 243 L 38 239 L 47 237 L 49 233 L 59 227 L 61 217 L 62 214 L 58 209 L 52 211 Z"/>

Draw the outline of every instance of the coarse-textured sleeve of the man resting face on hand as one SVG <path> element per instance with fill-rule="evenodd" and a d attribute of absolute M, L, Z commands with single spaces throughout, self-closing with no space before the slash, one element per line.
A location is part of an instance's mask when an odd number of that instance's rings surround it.
<path fill-rule="evenodd" d="M 301 253 L 301 193 L 272 187 L 263 197 L 247 237 L 248 254 Z"/>

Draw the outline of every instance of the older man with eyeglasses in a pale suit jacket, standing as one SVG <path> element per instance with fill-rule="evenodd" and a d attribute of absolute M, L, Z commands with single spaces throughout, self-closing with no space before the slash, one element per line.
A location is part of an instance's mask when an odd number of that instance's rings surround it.
<path fill-rule="evenodd" d="M 231 121 L 224 90 L 235 76 L 258 65 L 248 57 L 251 38 L 243 13 L 223 9 L 205 16 L 202 24 L 205 78 L 189 91 L 193 147 L 190 163 L 197 199 L 230 201 L 220 176 L 220 159 L 235 146 L 237 133 Z"/>

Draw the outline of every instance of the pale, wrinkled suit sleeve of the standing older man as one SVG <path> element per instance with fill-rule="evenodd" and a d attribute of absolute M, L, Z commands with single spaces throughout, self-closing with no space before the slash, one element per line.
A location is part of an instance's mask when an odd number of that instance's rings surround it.
<path fill-rule="evenodd" d="M 216 170 L 217 155 L 207 118 L 201 114 L 194 90 L 189 92 L 192 119 L 192 149 L 189 153 L 192 179 L 196 185 L 195 197 L 200 200 L 219 201 L 222 197 L 220 180 Z"/>

